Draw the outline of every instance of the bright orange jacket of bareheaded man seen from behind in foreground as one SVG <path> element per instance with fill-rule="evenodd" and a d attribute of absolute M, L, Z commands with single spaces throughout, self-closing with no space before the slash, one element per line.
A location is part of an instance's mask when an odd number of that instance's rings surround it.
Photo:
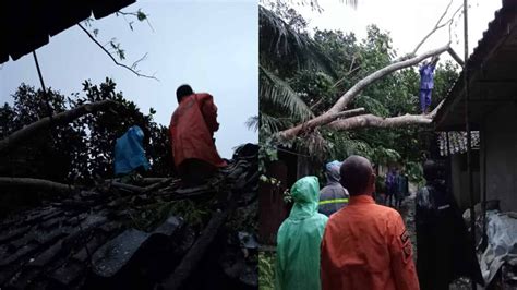
<path fill-rule="evenodd" d="M 330 216 L 322 241 L 323 290 L 418 290 L 402 218 L 371 196 L 352 196 Z"/>

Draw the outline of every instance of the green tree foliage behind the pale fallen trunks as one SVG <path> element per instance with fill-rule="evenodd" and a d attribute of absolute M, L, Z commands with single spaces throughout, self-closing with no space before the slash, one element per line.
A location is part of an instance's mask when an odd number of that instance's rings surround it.
<path fill-rule="evenodd" d="M 282 9 L 287 12 L 277 12 Z M 267 80 L 261 77 L 261 86 L 269 88 L 262 92 L 269 95 L 261 94 L 261 114 L 268 118 L 267 122 L 263 121 L 260 125 L 261 141 L 269 137 L 269 141 L 276 142 L 276 145 L 267 146 L 285 145 L 270 136 L 303 121 L 299 111 L 287 106 L 289 101 L 285 98 L 276 98 L 277 102 L 262 106 L 263 100 L 273 98 L 274 94 L 270 92 L 274 92 L 274 88 L 289 89 L 291 102 L 296 99 L 302 108 L 302 101 L 312 114 L 320 116 L 327 111 L 344 92 L 372 72 L 393 63 L 398 57 L 389 33 L 376 25 L 370 25 L 366 37 L 359 40 L 353 33 L 341 31 L 315 29 L 309 33 L 308 23 L 289 7 L 275 7 L 272 10 L 261 7 L 260 17 L 263 24 L 260 27 L 261 65 L 270 74 L 275 74 L 275 77 L 268 76 Z M 269 27 L 273 25 L 279 25 L 284 32 L 289 32 L 284 34 L 289 37 L 272 33 L 279 29 Z M 287 53 L 272 44 L 297 47 L 296 50 L 290 50 L 296 53 Z M 303 49 L 299 48 L 300 46 Z M 305 53 L 306 50 L 311 52 Z M 432 108 L 446 96 L 456 77 L 457 68 L 454 63 L 447 61 L 438 64 L 435 70 Z M 405 113 L 419 114 L 419 85 L 418 68 L 396 71 L 368 86 L 347 109 L 362 107 L 368 113 L 385 118 Z M 308 112 L 304 116 L 308 116 Z M 298 136 L 293 144 L 291 142 L 289 145 L 321 160 L 344 159 L 351 154 L 360 154 L 372 159 L 374 164 L 401 161 L 407 164 L 411 171 L 417 172 L 419 169 L 414 168 L 414 165 L 422 160 L 426 148 L 424 135 L 423 129 L 417 126 L 347 132 L 336 132 L 322 126 Z M 414 176 L 418 176 L 418 172 Z"/>

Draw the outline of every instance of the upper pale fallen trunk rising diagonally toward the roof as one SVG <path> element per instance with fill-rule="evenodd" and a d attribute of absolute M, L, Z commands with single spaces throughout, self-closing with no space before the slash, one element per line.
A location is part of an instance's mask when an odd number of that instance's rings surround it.
<path fill-rule="evenodd" d="M 369 76 L 359 81 L 350 89 L 348 89 L 347 93 L 345 93 L 328 111 L 304 123 L 301 123 L 297 126 L 284 130 L 279 132 L 279 135 L 284 138 L 290 140 L 299 135 L 302 131 L 305 131 L 305 130 L 310 131 L 316 126 L 321 126 L 321 125 L 325 125 L 330 122 L 334 122 L 337 119 L 336 114 L 341 112 L 348 106 L 348 104 L 350 104 L 353 100 L 353 98 L 356 98 L 370 84 L 383 78 L 384 76 L 395 71 L 412 67 L 426 58 L 430 58 L 433 56 L 440 56 L 441 53 L 447 51 L 448 48 L 449 48 L 449 44 L 443 47 L 433 49 L 433 50 L 429 50 L 418 57 L 389 64 L 370 74 Z"/>

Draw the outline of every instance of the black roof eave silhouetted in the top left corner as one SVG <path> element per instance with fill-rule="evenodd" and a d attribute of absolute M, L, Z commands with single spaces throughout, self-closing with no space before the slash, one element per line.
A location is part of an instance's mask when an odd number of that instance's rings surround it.
<path fill-rule="evenodd" d="M 88 19 L 105 17 L 135 0 L 5 0 L 0 2 L 0 64 L 48 44 L 49 37 Z"/>

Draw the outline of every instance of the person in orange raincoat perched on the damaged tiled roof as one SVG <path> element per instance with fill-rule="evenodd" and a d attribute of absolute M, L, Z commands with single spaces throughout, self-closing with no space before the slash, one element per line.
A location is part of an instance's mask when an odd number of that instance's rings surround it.
<path fill-rule="evenodd" d="M 178 87 L 176 96 L 169 126 L 175 166 L 187 184 L 201 183 L 227 165 L 215 146 L 217 107 L 211 95 L 194 94 L 189 85 Z"/>

